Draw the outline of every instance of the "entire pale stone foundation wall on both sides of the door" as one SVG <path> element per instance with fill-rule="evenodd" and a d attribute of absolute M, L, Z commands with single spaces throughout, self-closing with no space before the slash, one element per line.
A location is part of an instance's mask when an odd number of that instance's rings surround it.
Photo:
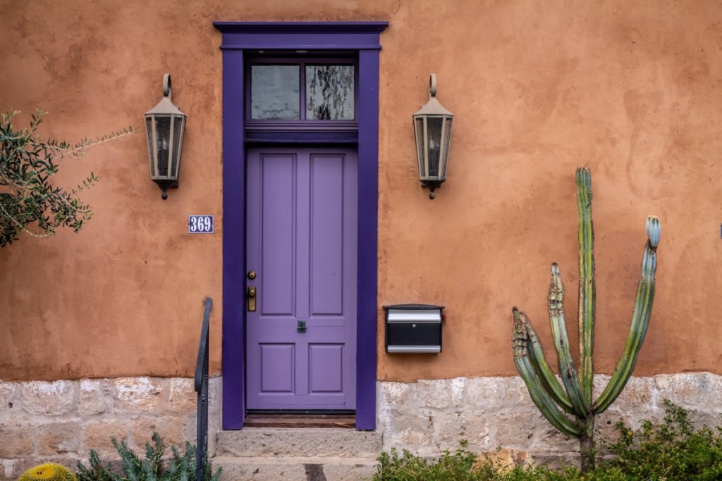
<path fill-rule="evenodd" d="M 601 392 L 608 376 L 595 378 Z M 377 430 L 383 449 L 406 448 L 434 456 L 469 441 L 473 451 L 498 446 L 527 451 L 537 462 L 575 462 L 578 444 L 558 433 L 531 402 L 518 377 L 455 378 L 414 383 L 379 381 Z M 209 453 L 221 426 L 222 379 L 209 386 Z M 632 378 L 625 391 L 596 420 L 596 437 L 614 438 L 623 419 L 638 426 L 661 420 L 664 400 L 690 410 L 699 424 L 719 425 L 722 376 L 664 374 Z M 196 437 L 193 379 L 119 378 L 80 381 L 0 381 L 0 480 L 16 480 L 28 467 L 87 462 L 90 449 L 115 457 L 110 436 L 142 452 L 152 431 L 170 444 Z"/>

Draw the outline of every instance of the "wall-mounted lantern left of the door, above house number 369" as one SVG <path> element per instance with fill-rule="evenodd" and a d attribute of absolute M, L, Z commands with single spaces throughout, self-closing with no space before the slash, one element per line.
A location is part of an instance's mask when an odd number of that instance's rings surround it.
<path fill-rule="evenodd" d="M 150 178 L 166 191 L 178 187 L 181 173 L 183 132 L 186 130 L 186 114 L 170 102 L 170 74 L 163 76 L 163 98 L 158 105 L 145 112 L 145 128 L 148 133 L 148 156 Z"/>

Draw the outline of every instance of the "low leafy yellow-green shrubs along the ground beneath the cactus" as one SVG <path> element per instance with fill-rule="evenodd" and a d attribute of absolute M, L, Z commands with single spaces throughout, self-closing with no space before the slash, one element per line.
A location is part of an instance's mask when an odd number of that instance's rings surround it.
<path fill-rule="evenodd" d="M 665 401 L 663 423 L 645 420 L 636 431 L 622 421 L 620 437 L 601 444 L 600 454 L 614 459 L 590 472 L 577 467 L 560 469 L 513 467 L 500 470 L 489 460 L 479 460 L 466 449 L 443 451 L 438 459 L 425 459 L 404 449 L 378 457 L 373 481 L 719 481 L 722 480 L 722 428 L 695 428 L 690 413 Z"/>

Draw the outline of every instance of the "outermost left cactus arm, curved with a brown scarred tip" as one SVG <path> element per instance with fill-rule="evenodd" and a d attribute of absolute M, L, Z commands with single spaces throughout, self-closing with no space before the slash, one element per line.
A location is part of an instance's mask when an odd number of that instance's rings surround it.
<path fill-rule="evenodd" d="M 514 311 L 516 314 L 516 308 L 514 308 Z M 519 374 L 521 374 L 521 379 L 523 379 L 524 384 L 526 384 L 526 388 L 529 389 L 531 400 L 534 401 L 534 404 L 539 408 L 541 414 L 549 420 L 549 423 L 552 423 L 555 428 L 567 436 L 578 438 L 580 435 L 578 427 L 554 404 L 552 398 L 544 390 L 541 381 L 539 381 L 539 378 L 536 376 L 534 366 L 532 366 L 529 360 L 529 331 L 527 330 L 529 322 L 528 319 L 526 320 L 527 322 L 525 324 L 521 316 L 515 315 L 514 317 L 513 350 L 516 369 L 519 371 Z"/>

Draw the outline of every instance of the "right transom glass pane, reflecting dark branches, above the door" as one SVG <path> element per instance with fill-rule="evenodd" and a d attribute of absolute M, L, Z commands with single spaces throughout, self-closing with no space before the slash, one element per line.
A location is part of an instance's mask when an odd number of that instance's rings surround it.
<path fill-rule="evenodd" d="M 306 66 L 306 118 L 354 120 L 354 66 Z"/>

